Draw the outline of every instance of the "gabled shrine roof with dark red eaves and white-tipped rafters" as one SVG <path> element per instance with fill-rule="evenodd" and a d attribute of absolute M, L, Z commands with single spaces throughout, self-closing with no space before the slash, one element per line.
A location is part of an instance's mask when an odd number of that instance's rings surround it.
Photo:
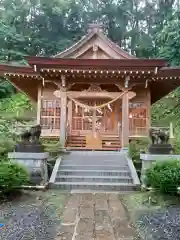
<path fill-rule="evenodd" d="M 95 44 L 95 46 L 94 46 Z M 97 45 L 96 45 L 97 44 Z M 98 47 L 104 58 L 93 57 Z M 88 52 L 89 51 L 89 52 Z M 88 53 L 92 55 L 88 57 Z M 0 64 L 0 75 L 37 101 L 38 86 L 45 81 L 118 84 L 128 76 L 130 83 L 148 87 L 154 103 L 180 86 L 180 67 L 168 67 L 165 59 L 138 59 L 108 39 L 99 25 L 91 25 L 88 33 L 70 48 L 53 57 L 25 57 L 29 66 Z"/>

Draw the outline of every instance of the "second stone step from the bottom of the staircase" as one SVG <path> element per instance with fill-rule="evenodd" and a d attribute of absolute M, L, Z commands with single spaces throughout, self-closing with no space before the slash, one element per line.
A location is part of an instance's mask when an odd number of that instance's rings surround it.
<path fill-rule="evenodd" d="M 128 176 L 77 176 L 59 175 L 57 182 L 104 182 L 104 183 L 132 183 L 132 178 Z"/>

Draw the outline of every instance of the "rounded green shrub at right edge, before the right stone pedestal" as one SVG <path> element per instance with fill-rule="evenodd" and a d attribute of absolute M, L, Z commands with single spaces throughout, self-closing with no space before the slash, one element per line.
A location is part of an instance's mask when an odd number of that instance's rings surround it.
<path fill-rule="evenodd" d="M 145 184 L 161 193 L 176 194 L 180 186 L 180 162 L 156 162 L 145 171 Z"/>

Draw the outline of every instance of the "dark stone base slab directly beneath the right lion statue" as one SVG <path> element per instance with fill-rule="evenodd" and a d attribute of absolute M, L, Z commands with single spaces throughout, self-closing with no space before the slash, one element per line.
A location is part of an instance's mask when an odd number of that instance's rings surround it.
<path fill-rule="evenodd" d="M 150 154 L 172 154 L 174 149 L 171 144 L 151 144 L 148 152 Z"/>

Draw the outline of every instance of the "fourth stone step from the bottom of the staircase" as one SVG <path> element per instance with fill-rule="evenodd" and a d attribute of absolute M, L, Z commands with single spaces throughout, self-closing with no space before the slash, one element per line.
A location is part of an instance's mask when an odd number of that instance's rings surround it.
<path fill-rule="evenodd" d="M 128 166 L 117 166 L 117 165 L 60 165 L 61 170 L 76 169 L 76 170 L 126 170 L 129 171 Z"/>

